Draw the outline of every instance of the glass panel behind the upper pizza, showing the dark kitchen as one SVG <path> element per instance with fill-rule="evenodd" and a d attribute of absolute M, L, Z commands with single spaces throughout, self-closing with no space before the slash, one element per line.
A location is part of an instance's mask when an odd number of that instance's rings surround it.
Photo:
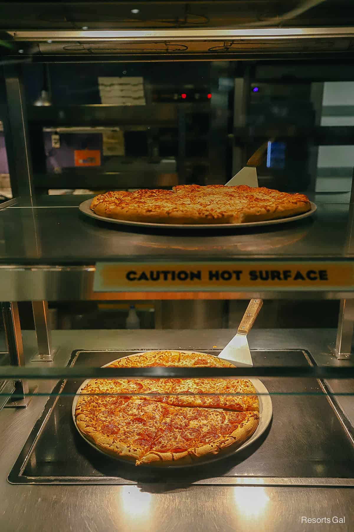
<path fill-rule="evenodd" d="M 36 190 L 87 194 L 225 184 L 268 142 L 257 169 L 260 185 L 350 192 L 353 81 L 327 81 L 332 67 L 25 64 Z"/>

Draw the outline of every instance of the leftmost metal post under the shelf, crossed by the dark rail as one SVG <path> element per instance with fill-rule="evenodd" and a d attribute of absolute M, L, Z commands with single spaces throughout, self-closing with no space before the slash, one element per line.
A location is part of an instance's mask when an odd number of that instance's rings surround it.
<path fill-rule="evenodd" d="M 17 303 L 3 302 L 1 303 L 5 336 L 7 343 L 8 354 L 10 355 L 10 363 L 18 367 L 24 366 L 24 354 L 23 344 L 21 336 L 21 326 L 19 309 Z M 4 408 L 25 408 L 31 401 L 33 394 L 37 390 L 35 388 L 29 388 L 28 381 L 26 379 L 15 381 L 15 391 L 13 396 L 10 397 Z"/>

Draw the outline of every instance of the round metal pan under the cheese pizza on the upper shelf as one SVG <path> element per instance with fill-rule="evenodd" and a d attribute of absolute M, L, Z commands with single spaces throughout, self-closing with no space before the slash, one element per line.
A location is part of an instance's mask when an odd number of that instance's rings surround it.
<path fill-rule="evenodd" d="M 108 223 L 119 223 L 124 226 L 135 227 L 151 227 L 151 228 L 163 228 L 163 229 L 232 229 L 243 227 L 258 227 L 258 226 L 273 226 L 278 223 L 288 223 L 296 220 L 302 220 L 311 216 L 317 210 L 315 203 L 310 202 L 311 209 L 303 214 L 297 214 L 296 216 L 290 216 L 288 218 L 279 218 L 278 220 L 264 220 L 262 222 L 246 222 L 246 223 L 150 223 L 150 222 L 132 222 L 128 220 L 115 220 L 113 218 L 105 218 L 99 216 L 91 211 L 90 205 L 92 200 L 85 200 L 79 205 L 80 211 L 96 220 L 101 220 Z"/>

